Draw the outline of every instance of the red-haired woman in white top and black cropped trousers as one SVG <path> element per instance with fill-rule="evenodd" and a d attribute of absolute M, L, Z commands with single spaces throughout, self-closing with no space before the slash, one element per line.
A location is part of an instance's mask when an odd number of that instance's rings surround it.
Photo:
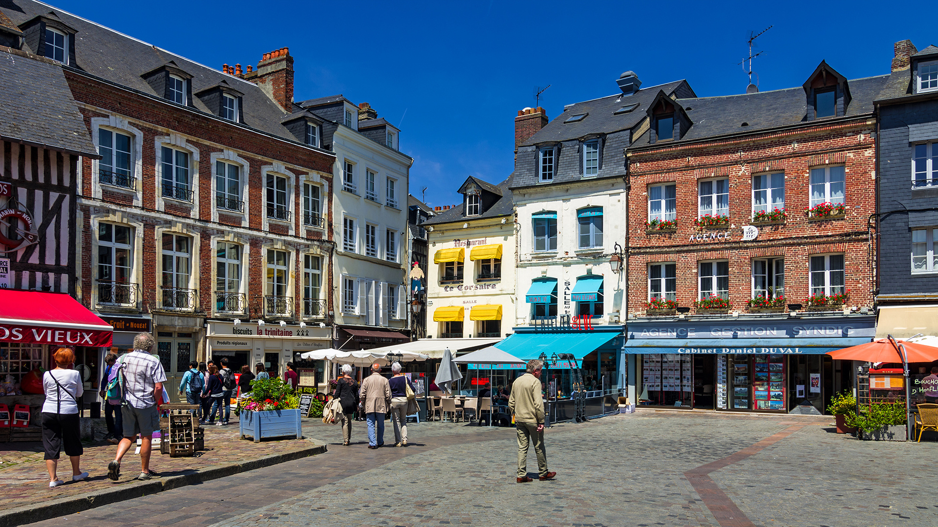
<path fill-rule="evenodd" d="M 78 398 L 82 397 L 82 376 L 71 369 L 75 363 L 75 353 L 68 348 L 59 348 L 53 354 L 55 368 L 42 376 L 42 387 L 46 401 L 42 404 L 42 446 L 46 451 L 46 468 L 49 469 L 49 488 L 53 489 L 65 482 L 55 475 L 59 459 L 59 450 L 65 446 L 65 453 L 71 459 L 71 480 L 79 481 L 88 477 L 80 468 L 82 432 L 78 421 Z"/>

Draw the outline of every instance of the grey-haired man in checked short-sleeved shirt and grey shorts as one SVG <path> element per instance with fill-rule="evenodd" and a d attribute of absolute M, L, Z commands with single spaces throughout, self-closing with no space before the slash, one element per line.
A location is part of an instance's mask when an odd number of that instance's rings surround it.
<path fill-rule="evenodd" d="M 166 372 L 159 359 L 150 354 L 154 345 L 153 335 L 139 333 L 133 338 L 133 351 L 118 359 L 118 370 L 124 404 L 121 407 L 124 419 L 124 438 L 117 444 L 117 455 L 108 465 L 108 477 L 114 481 L 120 476 L 120 461 L 140 435 L 140 475 L 137 479 L 159 477 L 150 470 L 150 450 L 153 432 L 159 429 L 158 401 L 163 397 Z"/>

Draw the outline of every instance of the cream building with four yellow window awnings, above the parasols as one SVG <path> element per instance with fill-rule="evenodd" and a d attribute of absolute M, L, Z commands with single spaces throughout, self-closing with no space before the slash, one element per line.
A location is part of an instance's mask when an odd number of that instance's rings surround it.
<path fill-rule="evenodd" d="M 462 203 L 424 223 L 429 243 L 427 336 L 504 338 L 515 323 L 515 221 L 507 181 L 469 177 Z"/>

